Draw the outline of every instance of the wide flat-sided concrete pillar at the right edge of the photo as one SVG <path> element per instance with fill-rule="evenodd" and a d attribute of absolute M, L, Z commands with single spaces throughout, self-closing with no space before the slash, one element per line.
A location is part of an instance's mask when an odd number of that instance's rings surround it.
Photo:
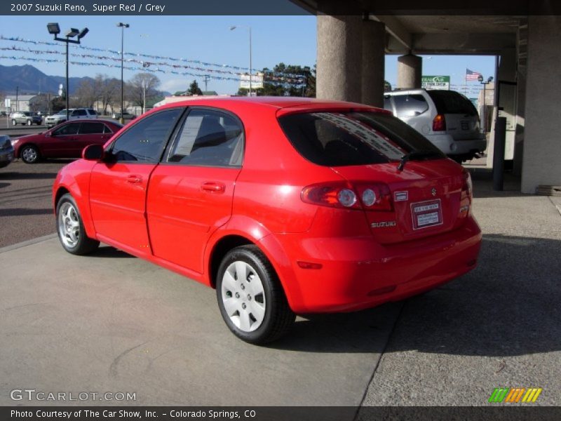
<path fill-rule="evenodd" d="M 561 185 L 561 16 L 529 16 L 522 193 Z"/>

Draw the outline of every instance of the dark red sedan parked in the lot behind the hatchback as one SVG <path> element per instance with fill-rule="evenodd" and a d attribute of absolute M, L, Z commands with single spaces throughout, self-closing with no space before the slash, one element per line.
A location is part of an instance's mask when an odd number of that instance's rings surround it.
<path fill-rule="evenodd" d="M 108 120 L 72 120 L 36 135 L 12 140 L 15 156 L 25 163 L 41 158 L 79 158 L 88 145 L 104 145 L 123 126 Z"/>

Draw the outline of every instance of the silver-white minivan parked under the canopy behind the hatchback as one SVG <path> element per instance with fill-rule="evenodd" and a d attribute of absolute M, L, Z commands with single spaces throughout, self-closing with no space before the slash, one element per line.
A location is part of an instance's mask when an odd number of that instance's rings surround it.
<path fill-rule="evenodd" d="M 400 89 L 384 93 L 384 109 L 458 162 L 473 159 L 487 148 L 478 112 L 461 93 Z"/>

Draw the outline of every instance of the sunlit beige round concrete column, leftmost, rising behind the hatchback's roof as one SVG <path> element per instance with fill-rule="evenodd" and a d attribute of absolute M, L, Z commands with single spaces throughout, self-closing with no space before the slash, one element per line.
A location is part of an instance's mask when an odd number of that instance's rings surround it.
<path fill-rule="evenodd" d="M 362 24 L 360 16 L 318 15 L 317 98 L 362 100 Z"/>

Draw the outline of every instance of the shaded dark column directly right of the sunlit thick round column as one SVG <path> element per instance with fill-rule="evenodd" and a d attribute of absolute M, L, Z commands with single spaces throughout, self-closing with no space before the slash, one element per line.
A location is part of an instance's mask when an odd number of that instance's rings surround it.
<path fill-rule="evenodd" d="M 363 21 L 363 98 L 361 102 L 384 107 L 384 59 L 386 25 L 374 20 Z"/>

